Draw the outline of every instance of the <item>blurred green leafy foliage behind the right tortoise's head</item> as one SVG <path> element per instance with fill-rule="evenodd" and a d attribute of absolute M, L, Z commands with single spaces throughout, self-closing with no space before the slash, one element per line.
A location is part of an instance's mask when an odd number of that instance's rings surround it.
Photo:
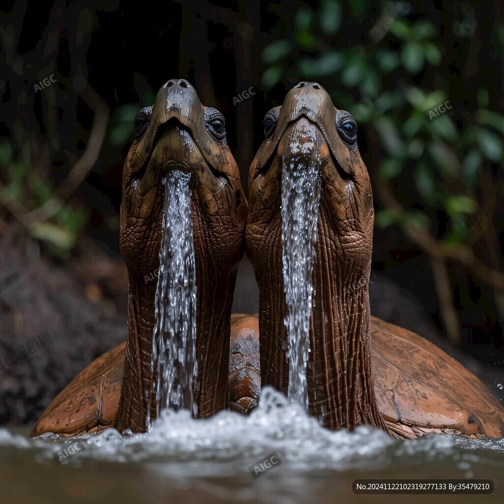
<path fill-rule="evenodd" d="M 454 106 L 429 120 L 431 107 L 451 99 L 450 62 L 444 53 L 450 50 L 446 30 L 455 21 L 451 19 L 442 34 L 439 22 L 413 12 L 405 16 L 398 5 L 321 0 L 318 11 L 303 8 L 294 18 L 291 36 L 264 48 L 269 67 L 263 86 L 272 88 L 280 80 L 319 81 L 338 108 L 364 125 L 368 145 L 379 145 L 380 158 L 372 159 L 376 183 L 401 181 L 394 194 L 405 210 L 378 212 L 376 225 L 421 226 L 452 246 L 470 238 L 467 219 L 481 211 L 477 195 L 484 164 L 502 163 L 504 116 L 489 110 L 488 90 L 480 87 L 475 110 Z M 474 29 L 474 9 L 469 10 L 470 19 L 457 19 L 465 25 L 457 25 L 456 37 L 466 37 L 458 33 L 462 28 Z M 504 45 L 502 26 L 494 38 Z M 461 51 L 459 67 L 468 57 Z M 421 87 L 418 82 L 427 84 Z M 498 187 L 497 194 L 501 191 Z M 437 229 L 439 211 L 449 222 L 442 232 Z"/>

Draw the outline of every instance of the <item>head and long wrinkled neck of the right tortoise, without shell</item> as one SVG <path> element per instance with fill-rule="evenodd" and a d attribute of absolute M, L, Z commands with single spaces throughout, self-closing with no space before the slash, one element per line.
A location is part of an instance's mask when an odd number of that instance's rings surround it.
<path fill-rule="evenodd" d="M 280 107 L 266 114 L 264 127 L 266 138 L 250 167 L 245 232 L 260 289 L 262 384 L 284 393 L 289 385 L 282 191 L 292 189 L 286 186 L 289 170 L 313 170 L 318 175 L 296 189 L 306 195 L 320 192 L 308 307 L 309 409 L 331 428 L 359 423 L 383 427 L 369 366 L 367 288 L 374 213 L 369 176 L 357 148 L 357 124 L 349 112 L 333 105 L 320 84 L 300 82 Z"/>

